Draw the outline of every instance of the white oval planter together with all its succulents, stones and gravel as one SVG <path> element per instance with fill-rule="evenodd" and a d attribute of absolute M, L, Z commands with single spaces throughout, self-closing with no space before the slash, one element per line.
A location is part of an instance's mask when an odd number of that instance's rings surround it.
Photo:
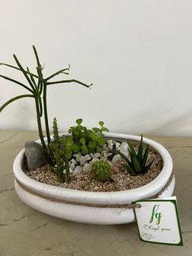
<path fill-rule="evenodd" d="M 0 112 L 16 99 L 24 97 L 35 100 L 37 112 L 40 137 L 38 146 L 37 143 L 35 146 L 34 143 L 26 143 L 25 149 L 15 158 L 13 166 L 15 192 L 20 199 L 55 217 L 82 223 L 120 224 L 134 221 L 133 207 L 137 205 L 133 205 L 132 201 L 171 196 L 175 186 L 172 158 L 159 143 L 141 136 L 110 133 L 103 121 L 99 121 L 99 127 L 88 129 L 82 126 L 81 118 L 76 120 L 76 126 L 70 127 L 68 133 L 63 135 L 59 135 L 55 118 L 54 135 L 50 135 L 46 108 L 47 87 L 67 82 L 76 82 L 87 88 L 91 85 L 76 79 L 52 81 L 60 73 L 68 74 L 70 67 L 63 68 L 50 77 L 43 77 L 35 46 L 33 51 L 37 60 L 37 73 L 24 68 L 15 55 L 16 66 L 3 64 L 23 73 L 28 86 L 0 75 L 30 92 L 10 99 L 2 105 Z M 42 131 L 42 117 L 46 137 Z M 28 144 L 32 147 L 28 147 Z M 39 158 L 37 152 L 42 154 L 41 164 L 36 163 L 36 169 L 28 168 L 31 165 L 28 150 L 33 153 L 31 159 Z M 159 173 L 156 174 L 151 171 L 153 168 L 156 172 L 159 168 L 154 157 L 160 163 Z M 49 176 L 49 182 L 46 182 L 46 175 Z M 147 181 L 146 177 L 150 179 Z"/>

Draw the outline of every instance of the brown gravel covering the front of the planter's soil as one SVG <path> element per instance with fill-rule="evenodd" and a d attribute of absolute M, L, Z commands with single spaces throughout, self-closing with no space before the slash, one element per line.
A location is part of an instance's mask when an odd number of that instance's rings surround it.
<path fill-rule="evenodd" d="M 101 182 L 95 179 L 94 174 L 76 174 L 72 173 L 71 183 L 59 183 L 57 175 L 50 171 L 50 166 L 46 165 L 37 170 L 29 170 L 25 172 L 28 177 L 38 182 L 58 186 L 62 188 L 72 188 L 76 190 L 92 191 L 92 192 L 115 192 L 132 188 L 139 188 L 150 183 L 155 179 L 163 168 L 163 160 L 159 154 L 153 150 L 150 151 L 148 161 L 155 159 L 151 169 L 146 174 L 133 176 L 129 171 L 124 170 L 124 161 L 120 161 L 112 167 L 111 181 Z"/>

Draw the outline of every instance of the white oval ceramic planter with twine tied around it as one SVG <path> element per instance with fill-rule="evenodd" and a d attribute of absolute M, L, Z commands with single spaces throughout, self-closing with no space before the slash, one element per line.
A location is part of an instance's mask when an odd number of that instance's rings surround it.
<path fill-rule="evenodd" d="M 132 139 L 139 141 L 141 139 L 140 136 L 115 133 L 107 133 L 106 137 L 117 140 Z M 158 177 L 141 188 L 122 192 L 85 192 L 39 183 L 30 179 L 21 168 L 24 160 L 23 149 L 15 158 L 13 165 L 15 192 L 27 205 L 58 218 L 93 224 L 131 223 L 134 221 L 133 210 L 126 207 L 121 208 L 121 206 L 116 208 L 113 205 L 127 205 L 131 204 L 132 201 L 155 196 L 165 187 L 172 175 L 172 158 L 168 151 L 151 139 L 143 138 L 143 142 L 150 144 L 152 148 L 159 152 L 164 161 L 164 167 Z M 171 183 L 159 197 L 171 196 L 174 187 L 175 178 L 173 176 Z M 111 205 L 111 207 L 102 207 L 101 205 Z"/>

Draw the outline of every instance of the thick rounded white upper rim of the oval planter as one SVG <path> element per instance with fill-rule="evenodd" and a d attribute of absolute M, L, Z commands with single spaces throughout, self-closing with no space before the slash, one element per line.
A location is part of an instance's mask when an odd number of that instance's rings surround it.
<path fill-rule="evenodd" d="M 63 135 L 68 135 L 68 133 L 64 133 Z M 140 141 L 141 139 L 141 136 L 137 135 L 126 135 L 111 132 L 105 133 L 105 137 L 112 137 L 113 139 L 132 139 L 136 141 Z M 39 143 L 39 140 L 37 140 L 37 142 Z M 64 198 L 68 201 L 78 201 L 81 203 L 94 202 L 95 204 L 98 203 L 103 205 L 127 204 L 131 203 L 132 201 L 136 201 L 137 199 L 150 198 L 152 195 L 155 195 L 162 188 L 164 188 L 172 174 L 172 157 L 170 156 L 167 149 L 154 140 L 147 139 L 145 137 L 143 137 L 143 143 L 148 143 L 152 148 L 159 152 L 164 161 L 164 166 L 160 174 L 154 180 L 152 180 L 151 183 L 147 183 L 140 188 L 133 188 L 120 192 L 87 192 L 69 188 L 59 188 L 56 186 L 48 185 L 46 183 L 37 182 L 24 174 L 24 171 L 21 169 L 21 164 L 24 157 L 24 149 L 22 149 L 17 157 L 15 157 L 13 171 L 15 174 L 15 179 L 26 186 L 26 188 L 46 196 L 52 196 L 59 199 Z"/>

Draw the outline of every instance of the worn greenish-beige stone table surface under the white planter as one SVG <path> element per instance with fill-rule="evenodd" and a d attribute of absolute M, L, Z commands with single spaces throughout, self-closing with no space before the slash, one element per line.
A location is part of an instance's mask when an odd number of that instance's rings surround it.
<path fill-rule="evenodd" d="M 0 256 L 192 255 L 192 138 L 148 136 L 172 155 L 184 246 L 139 241 L 136 223 L 99 226 L 72 223 L 25 205 L 14 190 L 12 163 L 37 131 L 0 131 Z"/>

